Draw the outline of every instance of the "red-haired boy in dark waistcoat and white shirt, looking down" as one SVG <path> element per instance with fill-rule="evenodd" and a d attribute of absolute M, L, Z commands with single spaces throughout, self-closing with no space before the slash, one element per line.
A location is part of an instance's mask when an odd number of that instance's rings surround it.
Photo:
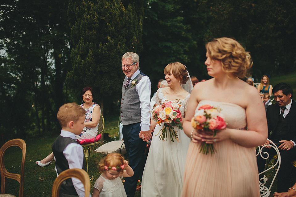
<path fill-rule="evenodd" d="M 67 103 L 60 107 L 57 118 L 62 131 L 51 147 L 55 158 L 55 171 L 59 175 L 67 169 L 82 169 L 83 148 L 76 142 L 75 135 L 79 135 L 84 127 L 85 110 L 76 103 Z M 80 180 L 66 179 L 60 187 L 60 197 L 83 197 L 84 191 Z"/>

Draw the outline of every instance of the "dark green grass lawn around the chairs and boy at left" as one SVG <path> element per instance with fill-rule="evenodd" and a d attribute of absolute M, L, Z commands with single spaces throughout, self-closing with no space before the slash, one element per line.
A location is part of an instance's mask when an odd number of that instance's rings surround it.
<path fill-rule="evenodd" d="M 118 120 L 107 122 L 105 129 L 117 127 Z M 107 131 L 109 136 L 118 139 L 118 128 Z M 39 161 L 51 153 L 51 144 L 54 142 L 58 135 L 53 137 L 39 138 L 25 140 L 27 145 L 26 162 L 25 162 L 25 183 L 24 183 L 24 196 L 38 196 L 49 197 L 51 196 L 51 189 L 53 182 L 56 178 L 55 162 L 46 167 L 39 167 L 35 161 Z M 98 171 L 98 163 L 103 157 L 94 151 L 94 146 L 90 151 L 90 159 L 88 159 L 88 172 L 91 181 L 91 194 L 92 187 L 100 176 Z M 10 147 L 5 153 L 4 162 L 7 171 L 11 173 L 20 172 L 21 164 L 21 149 L 19 147 Z M 15 180 L 7 180 L 6 193 L 19 196 L 19 183 Z M 141 191 L 136 192 L 136 196 L 141 196 Z"/>

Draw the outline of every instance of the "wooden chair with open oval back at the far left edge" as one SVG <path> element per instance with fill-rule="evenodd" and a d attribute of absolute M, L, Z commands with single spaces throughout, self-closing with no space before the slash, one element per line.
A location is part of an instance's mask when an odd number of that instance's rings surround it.
<path fill-rule="evenodd" d="M 9 173 L 4 165 L 4 153 L 8 147 L 18 146 L 22 149 L 22 163 L 20 174 Z M 25 171 L 25 158 L 26 158 L 26 143 L 22 139 L 12 139 L 6 142 L 0 149 L 0 171 L 1 171 L 1 194 L 0 196 L 9 196 L 5 194 L 5 181 L 6 178 L 15 179 L 19 182 L 19 197 L 23 197 L 24 193 L 24 171 Z M 14 195 L 10 195 L 14 196 Z"/>

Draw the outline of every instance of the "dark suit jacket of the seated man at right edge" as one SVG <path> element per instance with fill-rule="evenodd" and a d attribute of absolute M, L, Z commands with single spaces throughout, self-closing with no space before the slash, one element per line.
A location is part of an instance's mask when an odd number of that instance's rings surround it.
<path fill-rule="evenodd" d="M 266 118 L 268 125 L 268 138 L 273 140 L 293 140 L 296 142 L 296 102 L 292 100 L 291 108 L 288 114 L 288 131 L 283 133 L 283 139 L 274 139 L 275 129 L 278 124 L 278 118 L 281 107 L 275 103 L 267 107 Z M 270 135 L 271 133 L 271 135 Z"/>

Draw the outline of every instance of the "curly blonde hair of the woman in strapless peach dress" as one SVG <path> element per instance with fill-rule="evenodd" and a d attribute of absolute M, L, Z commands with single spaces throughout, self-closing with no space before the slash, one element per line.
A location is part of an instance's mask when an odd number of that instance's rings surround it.
<path fill-rule="evenodd" d="M 251 55 L 236 40 L 231 38 L 214 38 L 206 44 L 211 59 L 221 60 L 222 70 L 244 78 L 253 65 Z"/>

